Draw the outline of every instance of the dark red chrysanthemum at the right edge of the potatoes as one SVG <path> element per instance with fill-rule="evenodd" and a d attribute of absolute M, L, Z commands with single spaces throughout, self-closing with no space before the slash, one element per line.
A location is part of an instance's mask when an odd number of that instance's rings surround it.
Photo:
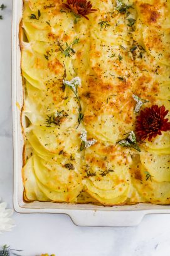
<path fill-rule="evenodd" d="M 141 141 L 146 138 L 151 141 L 152 137 L 161 135 L 162 131 L 170 131 L 170 122 L 164 118 L 168 112 L 169 110 L 166 110 L 164 106 L 158 107 L 157 105 L 141 110 L 139 116 L 136 117 L 135 133 L 137 137 Z"/>

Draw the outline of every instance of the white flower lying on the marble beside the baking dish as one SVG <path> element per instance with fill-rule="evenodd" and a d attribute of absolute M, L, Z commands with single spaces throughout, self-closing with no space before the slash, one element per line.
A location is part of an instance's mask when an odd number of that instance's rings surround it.
<path fill-rule="evenodd" d="M 3 231 L 11 231 L 14 227 L 13 219 L 9 218 L 13 215 L 12 209 L 6 209 L 6 202 L 0 203 L 0 234 Z"/>

